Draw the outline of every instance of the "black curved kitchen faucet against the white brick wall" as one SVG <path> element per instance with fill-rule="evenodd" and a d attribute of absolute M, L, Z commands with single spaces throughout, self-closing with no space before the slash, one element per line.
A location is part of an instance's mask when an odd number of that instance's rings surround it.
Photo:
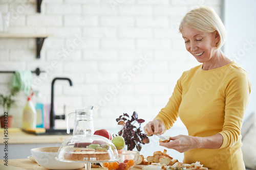
<path fill-rule="evenodd" d="M 56 77 L 52 80 L 52 93 L 51 93 L 51 111 L 50 111 L 50 129 L 55 129 L 55 119 L 65 119 L 65 114 L 62 115 L 55 115 L 54 113 L 54 82 L 56 80 L 68 80 L 70 86 L 73 85 L 72 81 L 69 78 L 61 78 L 61 77 Z"/>

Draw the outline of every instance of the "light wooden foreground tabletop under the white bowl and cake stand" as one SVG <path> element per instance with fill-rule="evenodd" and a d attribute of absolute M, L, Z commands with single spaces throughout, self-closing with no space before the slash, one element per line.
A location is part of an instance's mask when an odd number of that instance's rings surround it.
<path fill-rule="evenodd" d="M 33 162 L 30 159 L 10 159 L 8 160 L 8 166 L 4 165 L 4 160 L 0 160 L 0 169 L 5 170 L 46 170 L 46 168 L 41 167 L 36 162 Z M 94 170 L 103 170 L 102 167 L 99 168 L 91 168 Z M 84 170 L 84 168 L 80 168 L 79 170 Z M 141 170 L 139 168 L 132 168 L 132 170 Z"/>

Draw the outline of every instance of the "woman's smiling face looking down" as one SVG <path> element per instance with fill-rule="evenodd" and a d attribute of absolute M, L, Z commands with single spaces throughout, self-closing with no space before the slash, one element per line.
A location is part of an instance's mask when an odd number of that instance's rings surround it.
<path fill-rule="evenodd" d="M 210 61 L 216 55 L 216 44 L 220 39 L 217 31 L 212 33 L 203 33 L 182 27 L 182 37 L 185 40 L 186 50 L 192 54 L 198 62 L 204 63 Z"/>

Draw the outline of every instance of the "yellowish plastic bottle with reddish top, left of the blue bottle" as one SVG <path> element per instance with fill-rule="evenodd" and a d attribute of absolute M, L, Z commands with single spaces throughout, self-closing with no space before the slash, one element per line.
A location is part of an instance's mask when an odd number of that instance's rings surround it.
<path fill-rule="evenodd" d="M 36 129 L 36 111 L 31 96 L 23 110 L 23 129 Z"/>

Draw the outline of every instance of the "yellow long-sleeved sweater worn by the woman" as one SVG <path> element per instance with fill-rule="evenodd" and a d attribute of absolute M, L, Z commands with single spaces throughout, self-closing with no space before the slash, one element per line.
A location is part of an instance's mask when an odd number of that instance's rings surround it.
<path fill-rule="evenodd" d="M 170 129 L 180 116 L 190 136 L 220 133 L 220 149 L 194 149 L 184 153 L 185 163 L 200 161 L 205 167 L 245 169 L 241 152 L 241 127 L 246 110 L 250 80 L 236 62 L 220 68 L 202 70 L 202 64 L 184 71 L 173 95 L 155 119 Z"/>

